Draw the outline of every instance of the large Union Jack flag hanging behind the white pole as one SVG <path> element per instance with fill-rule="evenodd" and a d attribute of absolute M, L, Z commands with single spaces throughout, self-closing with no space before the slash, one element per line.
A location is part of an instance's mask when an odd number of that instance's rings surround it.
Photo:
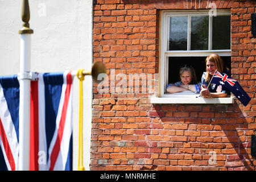
<path fill-rule="evenodd" d="M 31 81 L 30 170 L 72 170 L 71 72 Z M 19 81 L 0 77 L 0 170 L 17 170 Z"/>

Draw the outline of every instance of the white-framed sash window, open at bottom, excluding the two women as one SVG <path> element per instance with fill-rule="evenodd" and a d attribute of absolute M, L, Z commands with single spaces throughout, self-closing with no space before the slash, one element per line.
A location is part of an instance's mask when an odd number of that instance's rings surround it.
<path fill-rule="evenodd" d="M 206 98 L 196 98 L 199 94 L 191 91 L 166 93 L 168 84 L 179 81 L 181 65 L 192 65 L 200 82 L 205 71 L 204 60 L 210 53 L 220 55 L 230 68 L 230 10 L 216 10 L 215 16 L 209 14 L 209 10 L 161 12 L 159 98 L 173 98 L 168 99 L 170 103 L 190 103 L 187 98 L 195 98 L 192 99 L 195 104 L 230 102 L 230 98 L 212 98 L 208 101 Z M 183 101 L 180 98 L 184 98 Z"/>

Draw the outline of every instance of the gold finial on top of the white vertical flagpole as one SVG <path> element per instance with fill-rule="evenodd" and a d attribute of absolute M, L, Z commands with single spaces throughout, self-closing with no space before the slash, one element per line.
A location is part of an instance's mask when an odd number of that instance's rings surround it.
<path fill-rule="evenodd" d="M 28 0 L 22 1 L 22 29 L 19 30 L 19 34 L 33 34 L 33 30 L 30 28 L 28 23 L 30 20 L 30 6 L 28 5 Z"/>

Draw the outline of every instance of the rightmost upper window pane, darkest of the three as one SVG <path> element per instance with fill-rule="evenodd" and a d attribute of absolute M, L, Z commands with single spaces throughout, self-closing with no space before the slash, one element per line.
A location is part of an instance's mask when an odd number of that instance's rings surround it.
<path fill-rule="evenodd" d="M 212 49 L 230 49 L 230 16 L 213 16 Z"/>

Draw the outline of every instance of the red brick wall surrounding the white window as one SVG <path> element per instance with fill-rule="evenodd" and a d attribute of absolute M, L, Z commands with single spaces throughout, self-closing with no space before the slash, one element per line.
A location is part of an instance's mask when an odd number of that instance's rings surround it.
<path fill-rule="evenodd" d="M 102 61 L 108 73 L 158 73 L 160 10 L 208 9 L 207 2 L 212 1 L 94 1 L 93 60 Z M 250 155 L 256 129 L 251 35 L 256 3 L 213 2 L 231 9 L 232 76 L 252 98 L 250 104 L 151 105 L 150 93 L 118 93 L 109 76 L 109 92 L 99 93 L 97 84 L 93 89 L 91 170 L 256 169 Z"/>

